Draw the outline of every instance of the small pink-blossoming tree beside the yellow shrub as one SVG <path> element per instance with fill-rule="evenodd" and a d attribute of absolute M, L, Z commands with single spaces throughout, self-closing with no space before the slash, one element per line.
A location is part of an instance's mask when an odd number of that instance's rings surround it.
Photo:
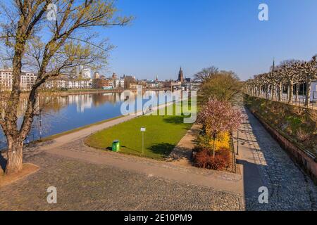
<path fill-rule="evenodd" d="M 234 110 L 230 103 L 212 99 L 204 104 L 197 121 L 204 125 L 206 136 L 213 139 L 214 158 L 218 134 L 238 129 L 242 122 L 242 114 L 240 110 Z"/>

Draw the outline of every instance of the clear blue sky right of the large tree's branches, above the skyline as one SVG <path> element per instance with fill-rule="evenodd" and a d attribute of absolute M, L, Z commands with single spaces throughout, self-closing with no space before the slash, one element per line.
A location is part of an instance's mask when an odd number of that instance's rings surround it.
<path fill-rule="evenodd" d="M 268 4 L 269 21 L 258 6 Z M 317 53 L 316 0 L 118 0 L 128 27 L 104 30 L 116 47 L 108 71 L 140 79 L 176 79 L 211 65 L 241 79 L 267 72 L 273 57 L 309 60 Z"/>

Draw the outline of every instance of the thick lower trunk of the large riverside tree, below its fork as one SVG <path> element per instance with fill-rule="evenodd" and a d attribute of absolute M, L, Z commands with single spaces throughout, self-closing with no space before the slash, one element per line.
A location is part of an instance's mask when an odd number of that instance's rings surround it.
<path fill-rule="evenodd" d="M 13 174 L 20 172 L 23 167 L 23 141 L 8 138 L 8 161 L 5 173 Z"/>

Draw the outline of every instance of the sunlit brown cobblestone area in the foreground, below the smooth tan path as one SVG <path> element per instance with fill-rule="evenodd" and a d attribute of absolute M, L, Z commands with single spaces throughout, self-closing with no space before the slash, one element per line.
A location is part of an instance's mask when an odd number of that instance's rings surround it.
<path fill-rule="evenodd" d="M 242 198 L 204 186 L 94 165 L 49 153 L 27 158 L 39 172 L 0 189 L 0 210 L 243 210 Z M 46 189 L 57 188 L 57 204 Z"/>

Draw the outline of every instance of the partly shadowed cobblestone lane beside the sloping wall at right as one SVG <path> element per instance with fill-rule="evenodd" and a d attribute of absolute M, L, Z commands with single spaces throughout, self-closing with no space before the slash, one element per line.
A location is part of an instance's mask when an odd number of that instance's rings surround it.
<path fill-rule="evenodd" d="M 268 204 L 263 205 L 259 204 L 259 193 L 245 193 L 246 210 L 317 210 L 317 188 L 311 179 L 292 162 L 254 115 L 248 110 L 244 110 L 244 115 L 248 120 L 242 125 L 240 141 L 251 149 L 260 183 L 269 191 Z M 251 182 L 246 181 L 244 186 Z"/>

